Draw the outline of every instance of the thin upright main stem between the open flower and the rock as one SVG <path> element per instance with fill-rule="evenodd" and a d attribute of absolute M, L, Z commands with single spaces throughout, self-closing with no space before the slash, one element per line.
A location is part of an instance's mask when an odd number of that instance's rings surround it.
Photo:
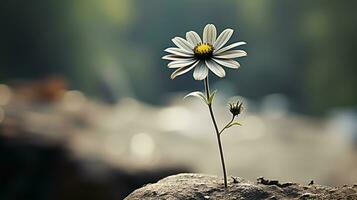
<path fill-rule="evenodd" d="M 208 82 L 208 76 L 204 80 L 205 84 L 205 90 L 206 90 L 206 95 L 207 95 L 207 100 L 210 97 L 210 91 L 209 91 L 209 82 Z M 212 110 L 212 103 L 209 102 L 208 104 L 208 109 L 211 115 L 211 119 L 214 125 L 214 129 L 216 131 L 216 136 L 217 136 L 217 141 L 218 141 L 218 147 L 219 147 L 219 153 L 221 156 L 221 163 L 222 163 L 222 168 L 223 168 L 223 177 L 224 177 L 224 187 L 227 188 L 227 173 L 226 173 L 226 165 L 224 164 L 224 156 L 223 156 L 223 149 L 222 149 L 222 142 L 221 142 L 221 136 L 220 136 L 220 131 L 218 130 L 217 122 L 213 114 Z"/>

